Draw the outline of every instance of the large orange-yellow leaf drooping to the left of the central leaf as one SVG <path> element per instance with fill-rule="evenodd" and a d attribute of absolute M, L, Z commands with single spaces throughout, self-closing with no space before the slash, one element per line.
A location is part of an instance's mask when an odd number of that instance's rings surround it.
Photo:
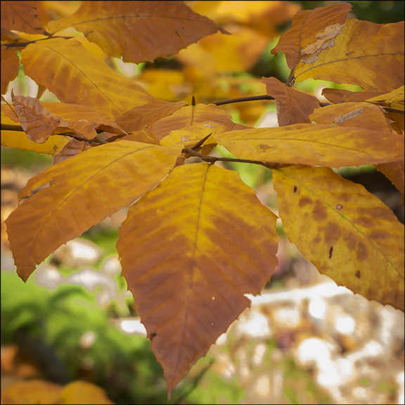
<path fill-rule="evenodd" d="M 117 141 L 30 179 L 19 195 L 27 200 L 6 221 L 18 275 L 27 280 L 60 245 L 149 191 L 174 167 L 180 151 L 181 146 Z"/>

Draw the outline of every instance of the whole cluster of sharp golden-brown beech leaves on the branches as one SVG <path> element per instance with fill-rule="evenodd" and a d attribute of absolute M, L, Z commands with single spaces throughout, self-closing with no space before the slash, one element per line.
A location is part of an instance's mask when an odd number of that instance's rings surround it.
<path fill-rule="evenodd" d="M 321 273 L 404 310 L 404 226 L 334 170 L 375 165 L 404 195 L 404 23 L 347 18 L 350 8 L 295 14 L 271 51 L 285 53 L 288 82 L 262 79 L 279 127 L 256 129 L 233 122 L 221 103 L 156 100 L 57 35 L 74 27 L 131 63 L 229 37 L 182 1 L 84 1 L 46 28 L 35 2 L 1 2 L 1 94 L 22 64 L 60 100 L 13 95 L 1 105 L 2 142 L 15 146 L 20 129 L 28 139 L 19 146 L 30 141 L 54 163 L 28 181 L 6 221 L 18 275 L 27 280 L 60 245 L 130 206 L 117 250 L 169 394 L 277 264 L 276 214 L 214 165 L 226 160 L 210 155 L 217 145 L 232 161 L 272 169 L 285 233 Z M 293 88 L 309 78 L 363 91 L 324 89 L 330 104 L 321 105 Z"/>

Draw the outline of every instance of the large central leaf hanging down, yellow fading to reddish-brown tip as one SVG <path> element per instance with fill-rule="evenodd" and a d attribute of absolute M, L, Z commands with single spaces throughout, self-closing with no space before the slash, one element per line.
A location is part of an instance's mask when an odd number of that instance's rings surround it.
<path fill-rule="evenodd" d="M 184 165 L 129 209 L 117 250 L 171 393 L 269 281 L 276 216 L 235 172 Z"/>

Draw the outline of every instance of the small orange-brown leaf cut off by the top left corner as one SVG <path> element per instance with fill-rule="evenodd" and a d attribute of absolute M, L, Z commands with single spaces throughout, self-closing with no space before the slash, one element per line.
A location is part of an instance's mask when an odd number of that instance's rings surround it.
<path fill-rule="evenodd" d="M 1 27 L 28 34 L 48 34 L 39 18 L 37 1 L 1 1 Z"/>

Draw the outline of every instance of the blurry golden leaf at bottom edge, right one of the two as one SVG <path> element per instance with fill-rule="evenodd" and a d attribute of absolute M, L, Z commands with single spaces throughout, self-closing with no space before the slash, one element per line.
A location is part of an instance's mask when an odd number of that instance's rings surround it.
<path fill-rule="evenodd" d="M 58 404 L 77 405 L 113 405 L 101 387 L 86 381 L 73 381 L 63 387 Z"/>

